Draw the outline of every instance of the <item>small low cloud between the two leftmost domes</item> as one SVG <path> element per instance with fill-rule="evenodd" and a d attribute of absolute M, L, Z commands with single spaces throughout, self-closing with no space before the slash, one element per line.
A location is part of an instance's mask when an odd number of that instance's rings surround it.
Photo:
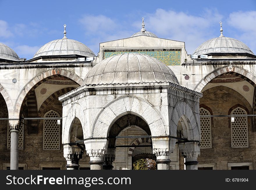
<path fill-rule="evenodd" d="M 14 50 L 19 57 L 31 59 L 33 55 L 39 50 L 39 48 L 39 46 L 18 45 L 14 48 Z"/>

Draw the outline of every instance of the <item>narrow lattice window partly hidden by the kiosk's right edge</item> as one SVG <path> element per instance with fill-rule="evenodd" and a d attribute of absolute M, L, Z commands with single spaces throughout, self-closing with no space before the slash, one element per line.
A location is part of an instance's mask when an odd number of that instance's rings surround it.
<path fill-rule="evenodd" d="M 200 116 L 211 115 L 207 109 L 200 108 Z M 200 117 L 201 142 L 200 148 L 211 148 L 211 117 Z"/>

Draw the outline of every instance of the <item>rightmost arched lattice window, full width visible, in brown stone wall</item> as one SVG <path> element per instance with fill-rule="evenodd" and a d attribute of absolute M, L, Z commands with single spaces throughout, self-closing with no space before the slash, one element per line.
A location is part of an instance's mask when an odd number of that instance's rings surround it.
<path fill-rule="evenodd" d="M 231 115 L 244 115 L 247 112 L 241 107 L 232 110 Z M 247 116 L 235 116 L 231 122 L 231 147 L 248 147 Z"/>

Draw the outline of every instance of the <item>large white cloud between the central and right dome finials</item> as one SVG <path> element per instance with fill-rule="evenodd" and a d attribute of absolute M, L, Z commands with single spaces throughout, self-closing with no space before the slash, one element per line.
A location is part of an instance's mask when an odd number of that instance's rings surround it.
<path fill-rule="evenodd" d="M 157 9 L 154 14 L 147 15 L 145 28 L 160 38 L 184 41 L 188 54 L 192 54 L 202 42 L 218 37 L 221 19 L 222 15 L 217 10 L 207 9 L 202 15 L 194 16 L 184 12 Z"/>

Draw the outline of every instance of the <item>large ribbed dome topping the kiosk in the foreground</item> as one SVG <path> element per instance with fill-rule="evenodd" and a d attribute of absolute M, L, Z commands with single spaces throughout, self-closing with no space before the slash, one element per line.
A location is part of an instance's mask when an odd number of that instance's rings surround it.
<path fill-rule="evenodd" d="M 171 82 L 179 84 L 173 71 L 161 61 L 138 53 L 120 54 L 99 62 L 83 85 Z"/>

